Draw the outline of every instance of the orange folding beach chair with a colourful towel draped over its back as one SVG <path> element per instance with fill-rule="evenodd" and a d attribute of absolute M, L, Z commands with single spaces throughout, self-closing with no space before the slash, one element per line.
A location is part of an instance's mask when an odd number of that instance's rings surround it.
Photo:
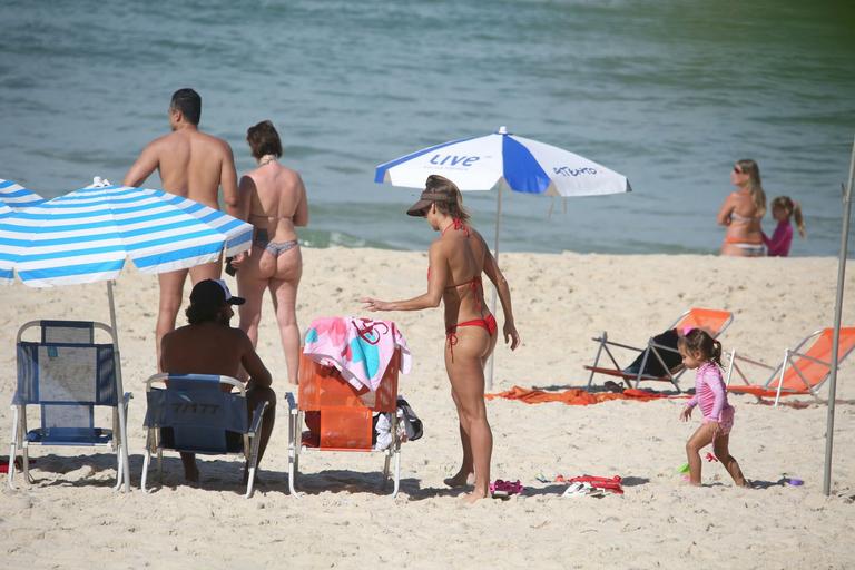
<path fill-rule="evenodd" d="M 385 455 L 383 483 L 389 481 L 390 461 L 394 458 L 394 489 L 397 494 L 401 481 L 401 438 L 397 434 L 397 373 L 401 351 L 396 350 L 375 392 L 367 387 L 356 390 L 332 366 L 322 366 L 305 354 L 299 355 L 299 404 L 293 394 L 288 401 L 288 488 L 298 497 L 296 478 L 299 456 L 306 452 L 346 451 L 374 452 Z M 374 449 L 373 416 L 386 413 L 391 419 L 391 444 L 382 450 Z M 303 432 L 303 422 L 311 430 Z"/>

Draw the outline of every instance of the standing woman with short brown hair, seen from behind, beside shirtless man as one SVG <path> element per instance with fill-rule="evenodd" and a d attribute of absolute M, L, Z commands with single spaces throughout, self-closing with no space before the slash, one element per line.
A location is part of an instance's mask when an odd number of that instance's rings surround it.
<path fill-rule="evenodd" d="M 295 311 L 297 286 L 303 274 L 295 226 L 308 224 L 306 188 L 295 170 L 278 163 L 282 142 L 268 120 L 249 127 L 246 132 L 258 168 L 240 179 L 240 217 L 255 226 L 249 255 L 239 254 L 232 261 L 237 272 L 240 305 L 240 328 L 258 343 L 264 289 L 269 289 L 282 347 L 288 366 L 288 380 L 297 383 L 299 365 L 299 330 Z"/>

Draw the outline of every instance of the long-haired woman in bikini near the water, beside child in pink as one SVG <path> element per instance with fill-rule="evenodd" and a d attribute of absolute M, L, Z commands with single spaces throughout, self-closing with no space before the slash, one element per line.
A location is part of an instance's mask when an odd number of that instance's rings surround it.
<path fill-rule="evenodd" d="M 719 225 L 727 226 L 721 255 L 763 256 L 760 220 L 766 214 L 766 194 L 763 191 L 757 163 L 738 160 L 730 173 L 730 184 L 738 189 L 730 193 L 718 212 Z"/>

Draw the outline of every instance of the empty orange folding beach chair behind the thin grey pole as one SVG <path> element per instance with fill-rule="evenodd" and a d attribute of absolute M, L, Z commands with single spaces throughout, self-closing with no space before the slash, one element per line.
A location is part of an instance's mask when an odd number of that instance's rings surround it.
<path fill-rule="evenodd" d="M 769 366 L 745 356 L 736 354 L 731 356 L 731 366 L 727 374 L 727 390 L 739 394 L 753 394 L 757 397 L 775 397 L 778 405 L 780 396 L 810 394 L 817 397 L 817 392 L 832 372 L 832 348 L 834 345 L 834 330 L 823 328 L 805 337 L 795 348 L 784 351 L 784 361 L 777 367 Z M 837 364 L 855 348 L 855 327 L 841 328 L 841 337 L 837 348 Z M 739 367 L 739 362 L 772 371 L 765 384 L 751 384 Z M 746 385 L 730 385 L 733 373 L 745 382 Z"/>

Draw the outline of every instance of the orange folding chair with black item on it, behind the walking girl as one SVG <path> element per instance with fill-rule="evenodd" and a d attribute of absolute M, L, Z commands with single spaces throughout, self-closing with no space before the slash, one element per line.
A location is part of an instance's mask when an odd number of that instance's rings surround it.
<path fill-rule="evenodd" d="M 729 311 L 718 311 L 715 308 L 690 308 L 686 311 L 684 314 L 681 314 L 677 321 L 671 323 L 670 326 L 668 326 L 668 330 L 677 328 L 704 328 L 707 331 L 712 338 L 718 337 L 721 333 L 725 332 L 725 330 L 730 326 L 730 323 L 734 321 L 734 315 Z M 677 392 L 681 392 L 680 386 L 677 385 L 677 380 L 682 375 L 685 371 L 681 363 L 678 363 L 676 365 L 667 365 L 665 362 L 665 356 L 671 356 L 674 353 L 678 353 L 677 348 L 672 346 L 665 346 L 658 342 L 656 342 L 655 337 L 650 337 L 647 341 L 646 347 L 638 347 L 638 346 L 630 346 L 628 344 L 621 344 L 616 343 L 613 341 L 609 340 L 609 335 L 606 331 L 603 331 L 602 336 L 598 336 L 596 338 L 592 338 L 596 343 L 598 343 L 597 346 L 597 355 L 593 358 L 593 364 L 591 366 L 586 366 L 586 370 L 591 371 L 591 375 L 588 377 L 588 387 L 591 387 L 591 383 L 593 382 L 594 374 L 605 374 L 608 376 L 615 376 L 619 377 L 623 381 L 623 383 L 627 385 L 627 387 L 636 387 L 638 389 L 639 383 L 641 381 L 659 381 L 659 382 L 670 382 L 675 389 L 677 389 Z M 637 372 L 625 372 L 625 367 L 618 364 L 618 361 L 615 358 L 615 354 L 612 353 L 611 347 L 619 347 L 627 351 L 632 351 L 640 353 L 642 355 L 641 357 L 641 365 L 638 367 Z M 602 354 L 606 353 L 606 355 L 611 361 L 611 364 L 615 367 L 603 367 L 599 366 L 600 357 Z M 653 361 L 655 358 L 655 361 Z M 674 361 L 675 358 L 668 358 Z M 647 368 L 648 362 L 656 362 L 659 364 L 661 370 L 665 371 L 665 374 L 662 375 L 651 375 L 646 374 L 643 371 Z M 636 385 L 632 386 L 632 382 L 635 381 Z"/>

